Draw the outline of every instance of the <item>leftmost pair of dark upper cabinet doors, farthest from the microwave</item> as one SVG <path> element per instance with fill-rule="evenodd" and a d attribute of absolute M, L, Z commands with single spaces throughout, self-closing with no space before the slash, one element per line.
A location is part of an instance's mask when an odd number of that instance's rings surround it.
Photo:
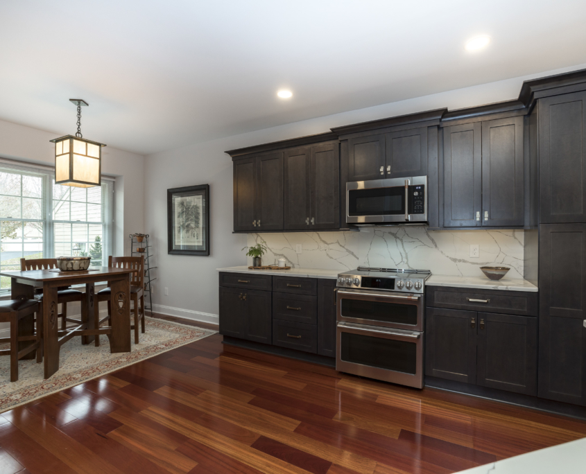
<path fill-rule="evenodd" d="M 234 231 L 283 229 L 283 152 L 234 160 Z"/>

